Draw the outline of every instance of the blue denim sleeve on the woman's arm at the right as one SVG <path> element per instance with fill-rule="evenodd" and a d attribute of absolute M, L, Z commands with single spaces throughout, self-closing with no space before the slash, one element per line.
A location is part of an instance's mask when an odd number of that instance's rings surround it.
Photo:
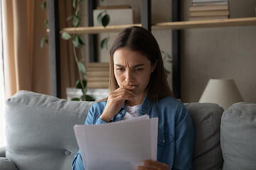
<path fill-rule="evenodd" d="M 193 169 L 193 146 L 194 128 L 193 122 L 186 111 L 185 106 L 181 106 L 178 124 L 175 130 L 175 159 L 173 169 Z"/>

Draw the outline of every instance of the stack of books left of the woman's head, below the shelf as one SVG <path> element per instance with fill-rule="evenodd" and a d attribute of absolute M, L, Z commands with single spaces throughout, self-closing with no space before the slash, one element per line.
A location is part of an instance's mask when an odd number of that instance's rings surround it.
<path fill-rule="evenodd" d="M 107 62 L 90 62 L 86 64 L 87 88 L 107 89 L 110 79 L 110 64 Z"/>

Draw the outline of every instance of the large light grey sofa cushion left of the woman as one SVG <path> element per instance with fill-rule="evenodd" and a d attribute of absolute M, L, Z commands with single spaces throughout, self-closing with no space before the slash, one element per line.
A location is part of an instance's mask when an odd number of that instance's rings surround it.
<path fill-rule="evenodd" d="M 19 170 L 71 169 L 73 126 L 85 123 L 93 103 L 18 91 L 6 101 L 6 158 Z"/>

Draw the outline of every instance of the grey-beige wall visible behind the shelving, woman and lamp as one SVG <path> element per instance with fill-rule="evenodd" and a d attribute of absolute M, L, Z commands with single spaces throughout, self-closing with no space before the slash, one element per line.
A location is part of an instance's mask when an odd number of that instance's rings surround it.
<path fill-rule="evenodd" d="M 141 1 L 107 0 L 107 5 L 127 4 L 134 10 L 134 23 L 140 23 Z M 152 23 L 171 21 L 171 0 L 151 0 L 151 4 Z M 97 5 L 104 4 L 97 0 Z M 188 20 L 189 5 L 191 0 L 181 1 L 184 21 Z M 255 16 L 255 7 L 255 0 L 230 0 L 230 18 Z M 161 50 L 171 54 L 171 30 L 153 30 L 152 33 Z M 116 35 L 111 35 L 109 47 Z M 102 54 L 100 62 L 108 62 L 108 50 L 99 53 Z M 255 63 L 256 26 L 181 30 L 182 101 L 198 101 L 210 78 L 231 77 L 245 101 L 256 103 Z M 166 67 L 171 70 L 171 65 Z M 171 84 L 170 76 L 168 81 Z"/>

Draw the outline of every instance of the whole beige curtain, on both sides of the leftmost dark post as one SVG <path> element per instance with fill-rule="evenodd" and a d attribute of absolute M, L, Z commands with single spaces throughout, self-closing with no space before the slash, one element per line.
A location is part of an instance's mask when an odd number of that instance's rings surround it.
<path fill-rule="evenodd" d="M 43 22 L 47 11 L 42 0 L 3 0 L 4 78 L 6 98 L 19 90 L 50 94 L 49 47 L 40 47 L 48 35 Z M 59 0 L 60 28 L 72 26 L 66 18 L 72 13 L 72 0 Z M 75 86 L 76 66 L 72 42 L 60 38 L 61 98 L 66 87 Z"/>

